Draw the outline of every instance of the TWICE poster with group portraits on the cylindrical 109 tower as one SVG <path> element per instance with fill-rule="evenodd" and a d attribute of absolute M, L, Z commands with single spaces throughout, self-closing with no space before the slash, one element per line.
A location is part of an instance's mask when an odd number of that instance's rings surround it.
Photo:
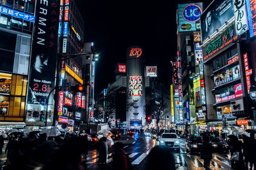
<path fill-rule="evenodd" d="M 129 76 L 130 96 L 142 96 L 142 76 Z"/>

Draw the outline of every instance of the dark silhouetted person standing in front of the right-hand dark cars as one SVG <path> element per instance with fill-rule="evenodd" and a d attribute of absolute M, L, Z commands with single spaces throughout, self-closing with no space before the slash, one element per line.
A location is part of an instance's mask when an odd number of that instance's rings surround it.
<path fill-rule="evenodd" d="M 210 163 L 212 160 L 212 147 L 209 143 L 209 137 L 203 137 L 204 143 L 202 146 L 201 159 L 204 159 L 204 168 L 206 170 L 210 169 Z"/>

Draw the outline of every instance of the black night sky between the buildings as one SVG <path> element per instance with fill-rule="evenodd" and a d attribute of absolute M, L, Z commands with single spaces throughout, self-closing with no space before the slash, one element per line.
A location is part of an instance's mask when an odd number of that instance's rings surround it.
<path fill-rule="evenodd" d="M 177 52 L 177 4 L 192 1 L 76 2 L 85 22 L 85 42 L 94 42 L 100 54 L 95 72 L 96 94 L 115 81 L 115 66 L 118 62 L 125 63 L 129 46 L 142 46 L 146 66 L 157 66 L 157 81 L 170 84 L 170 61 Z"/>

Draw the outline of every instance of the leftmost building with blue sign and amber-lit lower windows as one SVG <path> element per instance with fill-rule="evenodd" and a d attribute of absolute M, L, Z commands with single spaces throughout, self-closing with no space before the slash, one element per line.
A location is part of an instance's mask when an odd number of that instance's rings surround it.
<path fill-rule="evenodd" d="M 0 130 L 24 127 L 35 1 L 0 1 Z"/>

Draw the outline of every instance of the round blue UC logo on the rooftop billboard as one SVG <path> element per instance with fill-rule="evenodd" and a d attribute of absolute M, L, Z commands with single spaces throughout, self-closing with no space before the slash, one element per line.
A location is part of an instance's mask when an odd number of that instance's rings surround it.
<path fill-rule="evenodd" d="M 196 22 L 200 19 L 202 9 L 196 4 L 189 4 L 182 10 L 182 17 L 188 22 Z"/>

